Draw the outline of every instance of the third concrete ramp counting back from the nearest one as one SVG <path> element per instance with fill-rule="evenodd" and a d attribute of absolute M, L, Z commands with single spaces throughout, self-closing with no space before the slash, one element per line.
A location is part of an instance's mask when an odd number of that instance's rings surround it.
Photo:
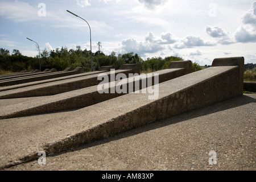
<path fill-rule="evenodd" d="M 116 70 L 115 75 L 118 73 L 124 73 L 129 77 L 129 73 L 133 73 L 133 69 Z M 109 76 L 111 72 L 105 72 Z M 81 76 L 77 78 L 70 78 L 68 80 L 61 80 L 50 82 L 47 84 L 40 84 L 35 86 L 29 86 L 26 88 L 8 90 L 0 93 L 0 98 L 20 98 L 20 97 L 36 97 L 36 96 L 51 96 L 59 93 L 69 92 L 72 90 L 82 89 L 89 86 L 100 84 L 100 80 L 97 79 L 98 75 Z"/>

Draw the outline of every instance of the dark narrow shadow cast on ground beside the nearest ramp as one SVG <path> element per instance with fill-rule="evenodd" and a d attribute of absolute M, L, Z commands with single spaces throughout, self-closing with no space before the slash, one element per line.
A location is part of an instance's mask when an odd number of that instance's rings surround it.
<path fill-rule="evenodd" d="M 72 151 L 83 150 L 85 148 L 89 148 L 89 147 L 97 146 L 97 145 L 100 145 L 100 144 L 112 142 L 114 140 L 118 140 L 118 139 L 122 139 L 122 138 L 126 138 L 126 137 L 131 137 L 133 135 L 144 133 L 144 132 L 147 132 L 147 131 L 150 131 L 150 130 L 159 129 L 160 127 L 173 125 L 175 123 L 184 122 L 184 121 L 187 121 L 189 119 L 202 117 L 204 115 L 213 114 L 213 113 L 217 113 L 219 111 L 232 109 L 232 108 L 239 107 L 239 106 L 242 106 L 242 105 L 250 104 L 252 102 L 256 102 L 256 99 L 252 98 L 252 97 L 249 97 L 249 96 L 245 96 L 245 95 L 238 96 L 238 97 L 235 97 L 235 98 L 230 98 L 229 100 L 218 102 L 217 104 L 213 104 L 213 105 L 206 106 L 206 107 L 203 107 L 203 108 L 200 108 L 200 109 L 188 111 L 186 113 L 175 115 L 173 117 L 163 119 L 161 121 L 156 121 L 154 123 L 150 123 L 150 124 L 145 125 L 145 126 L 141 126 L 141 127 L 135 128 L 135 129 L 131 129 L 129 131 L 125 131 L 124 133 L 113 135 L 109 138 L 100 139 L 100 140 L 97 140 L 96 142 L 92 142 L 92 143 L 84 144 L 82 146 L 74 147 L 72 149 L 60 152 L 58 154 L 54 154 L 52 156 L 57 156 L 57 155 L 64 154 L 64 153 L 67 153 L 67 152 L 72 152 Z"/>

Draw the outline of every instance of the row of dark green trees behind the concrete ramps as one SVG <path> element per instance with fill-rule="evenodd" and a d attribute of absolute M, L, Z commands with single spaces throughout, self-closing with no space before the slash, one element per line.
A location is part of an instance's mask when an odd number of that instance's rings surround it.
<path fill-rule="evenodd" d="M 154 72 L 166 69 L 171 61 L 180 60 L 183 60 L 183 58 L 179 56 L 151 57 L 143 60 L 141 56 L 134 52 L 118 55 L 116 52 L 112 52 L 110 55 L 105 55 L 101 51 L 92 52 L 93 71 L 98 71 L 100 67 L 106 65 L 114 65 L 115 69 L 119 69 L 122 64 L 140 64 L 142 72 Z M 50 52 L 45 48 L 40 52 L 40 64 L 42 71 L 51 68 L 63 71 L 65 68 L 82 67 L 85 72 L 90 72 L 90 51 L 82 50 L 80 46 L 77 46 L 76 50 L 61 47 Z M 13 49 L 12 53 L 8 49 L 0 49 L 0 70 L 20 72 L 32 69 L 39 69 L 39 56 L 23 56 L 17 49 Z M 201 67 L 199 64 L 192 62 L 192 69 L 193 71 L 199 71 Z"/>

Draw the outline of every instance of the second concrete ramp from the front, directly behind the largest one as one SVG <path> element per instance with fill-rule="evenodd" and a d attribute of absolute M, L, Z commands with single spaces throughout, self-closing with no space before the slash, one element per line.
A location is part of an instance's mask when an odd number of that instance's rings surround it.
<path fill-rule="evenodd" d="M 190 67 L 187 67 L 190 65 Z M 180 68 L 179 68 L 180 67 Z M 109 89 L 107 93 L 99 93 L 98 92 L 98 85 L 91 86 L 89 88 L 73 90 L 71 92 L 65 92 L 61 94 L 57 94 L 55 96 L 49 96 L 47 98 L 39 98 L 34 99 L 32 102 L 27 101 L 23 103 L 17 103 L 14 105 L 9 106 L 1 106 L 1 113 L 0 119 L 3 118 L 11 118 L 11 117 L 22 117 L 26 115 L 34 115 L 34 114 L 43 114 L 43 113 L 50 113 L 56 112 L 61 110 L 68 110 L 68 109 L 77 109 L 80 107 L 86 107 L 93 104 L 97 104 L 99 102 L 103 102 L 106 100 L 110 100 L 111 98 L 122 96 L 126 93 L 135 92 L 139 89 L 142 89 L 142 82 L 145 83 L 145 88 L 148 79 L 152 79 L 152 85 L 154 85 L 155 75 L 158 76 L 158 82 L 164 82 L 167 80 L 171 80 L 173 78 L 183 76 L 185 74 L 192 72 L 192 64 L 191 61 L 178 61 L 175 64 L 175 68 L 171 69 L 164 69 L 162 71 L 153 72 L 150 74 L 146 74 L 142 77 L 141 76 L 134 76 L 131 80 L 129 78 L 122 79 L 122 84 L 120 86 L 120 80 L 115 81 L 113 84 L 109 83 Z M 140 81 L 141 80 L 141 81 Z M 138 85 L 136 85 L 138 82 Z M 114 86 L 112 86 L 114 85 Z M 129 88 L 129 85 L 132 85 L 132 89 Z M 125 92 L 123 93 L 112 93 L 111 90 L 116 90 L 116 88 L 126 88 Z M 129 90 L 130 89 L 130 90 Z"/>

